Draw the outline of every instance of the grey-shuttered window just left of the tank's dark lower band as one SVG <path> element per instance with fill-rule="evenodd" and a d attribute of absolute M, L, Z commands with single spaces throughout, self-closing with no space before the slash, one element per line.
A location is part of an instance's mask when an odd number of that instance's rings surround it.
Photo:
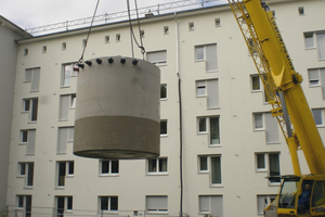
<path fill-rule="evenodd" d="M 74 127 L 60 127 L 57 138 L 57 153 L 66 154 L 66 144 L 74 142 L 75 128 Z"/>

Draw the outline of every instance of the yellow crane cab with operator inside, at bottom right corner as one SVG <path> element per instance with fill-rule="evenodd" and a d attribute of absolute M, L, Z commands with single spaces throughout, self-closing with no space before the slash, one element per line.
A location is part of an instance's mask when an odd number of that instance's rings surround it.
<path fill-rule="evenodd" d="M 325 217 L 325 176 L 284 176 L 278 197 L 264 216 Z"/>

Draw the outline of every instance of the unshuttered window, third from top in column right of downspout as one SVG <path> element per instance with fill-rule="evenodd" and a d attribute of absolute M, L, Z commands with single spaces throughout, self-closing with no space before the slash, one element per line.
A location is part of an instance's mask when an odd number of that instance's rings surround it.
<path fill-rule="evenodd" d="M 198 117 L 198 133 L 207 133 L 209 136 L 209 144 L 220 144 L 219 117 Z"/>

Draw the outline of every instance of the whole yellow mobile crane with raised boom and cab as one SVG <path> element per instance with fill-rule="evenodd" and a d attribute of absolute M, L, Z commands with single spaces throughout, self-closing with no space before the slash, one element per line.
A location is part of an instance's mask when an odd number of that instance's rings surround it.
<path fill-rule="evenodd" d="M 264 216 L 325 217 L 325 149 L 300 85 L 302 77 L 295 71 L 269 4 L 263 0 L 227 1 L 289 148 L 295 173 L 281 177 L 277 197 Z M 309 175 L 301 175 L 298 150 L 303 152 Z"/>

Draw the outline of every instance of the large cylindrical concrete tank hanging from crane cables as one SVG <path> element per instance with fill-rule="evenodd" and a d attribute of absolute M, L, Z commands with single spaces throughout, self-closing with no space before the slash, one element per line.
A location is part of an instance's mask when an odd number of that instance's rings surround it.
<path fill-rule="evenodd" d="M 100 60 L 90 60 L 78 75 L 74 154 L 107 159 L 159 156 L 160 69 L 130 58 Z"/>

